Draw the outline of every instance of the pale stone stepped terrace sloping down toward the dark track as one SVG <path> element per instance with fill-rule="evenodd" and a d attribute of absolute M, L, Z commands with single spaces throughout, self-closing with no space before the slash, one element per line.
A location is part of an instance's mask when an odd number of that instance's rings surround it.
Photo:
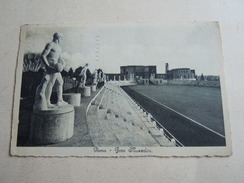
<path fill-rule="evenodd" d="M 174 146 L 117 85 L 109 82 L 91 102 L 87 126 L 94 146 Z"/>

